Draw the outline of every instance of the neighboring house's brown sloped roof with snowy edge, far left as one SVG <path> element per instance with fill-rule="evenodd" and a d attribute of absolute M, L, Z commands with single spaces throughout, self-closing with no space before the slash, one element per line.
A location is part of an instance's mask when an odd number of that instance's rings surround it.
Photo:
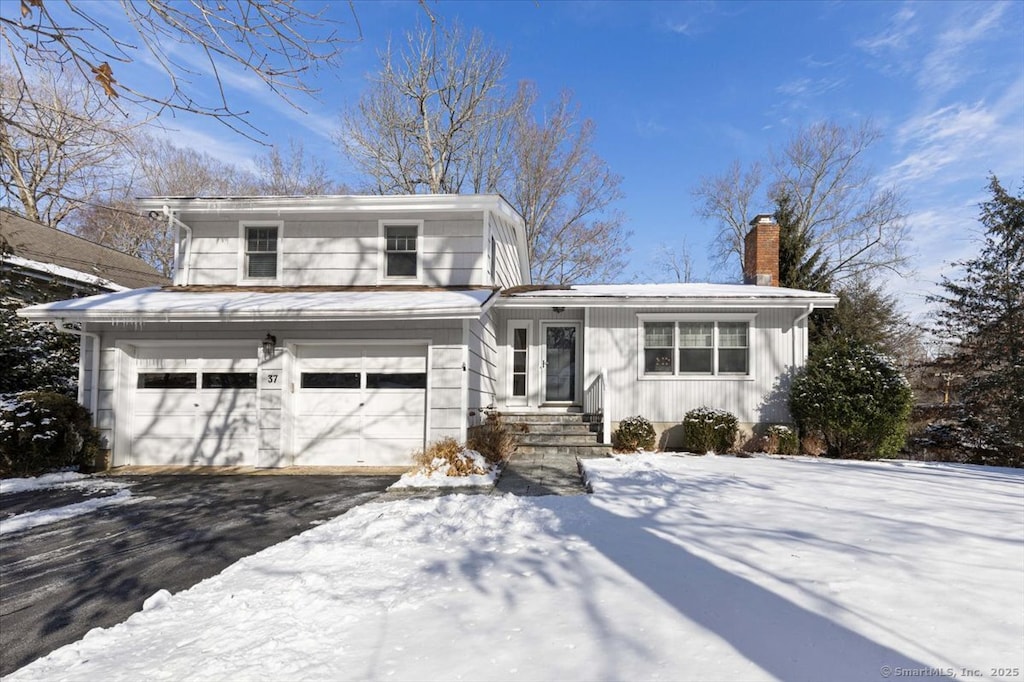
<path fill-rule="evenodd" d="M 140 258 L 129 256 L 110 247 L 90 242 L 55 227 L 42 225 L 7 210 L 0 210 L 0 238 L 10 249 L 3 260 L 44 274 L 84 282 L 102 288 L 99 282 L 114 283 L 134 289 L 162 285 L 168 279 Z M 61 269 L 39 267 L 55 265 Z M 114 287 L 118 288 L 118 287 Z"/>

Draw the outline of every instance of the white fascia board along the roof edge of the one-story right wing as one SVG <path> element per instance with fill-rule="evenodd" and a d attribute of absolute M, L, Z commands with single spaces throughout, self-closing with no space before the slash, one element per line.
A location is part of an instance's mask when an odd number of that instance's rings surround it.
<path fill-rule="evenodd" d="M 839 298 L 665 298 L 633 296 L 544 296 L 536 298 L 506 297 L 501 300 L 502 308 L 805 308 L 813 303 L 815 308 L 834 308 Z"/>

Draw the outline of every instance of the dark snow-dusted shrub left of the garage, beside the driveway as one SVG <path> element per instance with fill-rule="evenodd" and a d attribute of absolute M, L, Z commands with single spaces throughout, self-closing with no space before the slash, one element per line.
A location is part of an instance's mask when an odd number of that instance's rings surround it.
<path fill-rule="evenodd" d="M 98 455 L 99 432 L 74 398 L 29 391 L 0 399 L 0 477 L 92 469 Z"/>

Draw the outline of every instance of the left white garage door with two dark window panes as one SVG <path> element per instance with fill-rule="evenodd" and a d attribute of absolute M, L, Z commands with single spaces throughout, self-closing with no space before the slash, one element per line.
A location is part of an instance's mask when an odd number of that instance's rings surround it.
<path fill-rule="evenodd" d="M 140 349 L 132 464 L 255 466 L 256 358 L 245 355 L 216 347 Z"/>

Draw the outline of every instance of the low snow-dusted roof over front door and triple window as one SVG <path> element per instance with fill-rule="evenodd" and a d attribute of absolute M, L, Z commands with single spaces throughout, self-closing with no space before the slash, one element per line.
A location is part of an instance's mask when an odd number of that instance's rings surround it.
<path fill-rule="evenodd" d="M 802 289 L 721 284 L 552 285 L 502 292 L 503 307 L 644 305 L 653 307 L 833 308 L 839 297 Z"/>

